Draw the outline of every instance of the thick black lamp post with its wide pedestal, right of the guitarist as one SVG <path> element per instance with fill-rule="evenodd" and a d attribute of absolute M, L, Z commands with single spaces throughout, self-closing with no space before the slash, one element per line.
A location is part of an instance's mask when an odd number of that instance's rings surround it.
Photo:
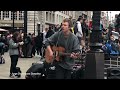
<path fill-rule="evenodd" d="M 104 53 L 102 30 L 100 30 L 101 11 L 93 11 L 90 51 L 86 55 L 85 79 L 104 79 Z"/>

